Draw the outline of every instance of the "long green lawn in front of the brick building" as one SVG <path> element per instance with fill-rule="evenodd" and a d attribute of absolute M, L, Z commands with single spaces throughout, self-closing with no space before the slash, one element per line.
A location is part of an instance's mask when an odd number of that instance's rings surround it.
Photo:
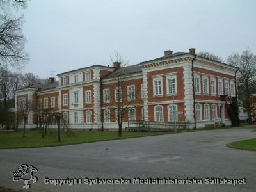
<path fill-rule="evenodd" d="M 61 142 L 58 142 L 56 131 L 49 131 L 45 138 L 38 130 L 26 131 L 26 137 L 22 138 L 22 131 L 0 131 L 0 148 L 24 148 L 24 147 L 46 147 L 56 145 L 69 145 L 74 143 L 88 143 L 93 141 L 104 141 L 118 139 L 117 131 L 73 131 L 76 136 L 68 136 L 67 132 L 61 132 Z M 122 138 L 140 136 L 151 136 L 166 134 L 164 132 L 128 132 L 123 131 Z"/>

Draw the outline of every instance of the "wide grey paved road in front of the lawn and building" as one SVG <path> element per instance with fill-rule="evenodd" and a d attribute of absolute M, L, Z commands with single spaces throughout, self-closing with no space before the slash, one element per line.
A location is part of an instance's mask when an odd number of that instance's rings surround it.
<path fill-rule="evenodd" d="M 256 152 L 226 143 L 256 138 L 256 126 L 103 141 L 63 147 L 0 150 L 0 186 L 20 189 L 12 172 L 38 168 L 29 191 L 256 191 Z M 49 178 L 246 178 L 247 184 L 44 184 Z"/>

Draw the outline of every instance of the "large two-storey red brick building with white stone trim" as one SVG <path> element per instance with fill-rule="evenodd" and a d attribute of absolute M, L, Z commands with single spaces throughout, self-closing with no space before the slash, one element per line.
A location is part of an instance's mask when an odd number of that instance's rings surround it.
<path fill-rule="evenodd" d="M 157 122 L 186 121 L 190 127 L 205 127 L 220 118 L 231 125 L 227 101 L 223 95 L 236 95 L 237 68 L 189 52 L 164 51 L 164 56 L 137 65 L 113 67 L 93 65 L 58 74 L 59 81 L 35 84 L 15 92 L 16 109 L 20 102 L 35 99 L 38 90 L 44 108 L 63 113 L 72 128 L 117 128 L 118 93 L 129 104 L 124 122 L 145 120 Z M 118 88 L 116 79 L 124 77 Z M 36 119 L 29 115 L 28 127 Z M 195 123 L 196 122 L 196 123 Z"/>

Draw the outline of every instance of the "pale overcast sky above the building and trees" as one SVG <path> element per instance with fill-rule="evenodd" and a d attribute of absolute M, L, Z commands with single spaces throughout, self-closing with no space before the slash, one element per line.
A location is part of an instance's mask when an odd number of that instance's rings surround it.
<path fill-rule="evenodd" d="M 226 60 L 249 48 L 256 54 L 256 1 L 31 0 L 24 10 L 23 72 L 50 77 L 107 65 L 119 52 L 136 64 L 163 51 L 209 51 Z"/>

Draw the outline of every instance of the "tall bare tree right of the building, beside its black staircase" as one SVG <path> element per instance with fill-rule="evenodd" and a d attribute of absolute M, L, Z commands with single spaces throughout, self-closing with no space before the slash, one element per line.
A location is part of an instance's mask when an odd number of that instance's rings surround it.
<path fill-rule="evenodd" d="M 239 68 L 237 74 L 238 98 L 252 122 L 252 100 L 250 95 L 256 92 L 256 56 L 247 49 L 242 54 L 233 53 L 227 58 L 228 64 Z"/>

